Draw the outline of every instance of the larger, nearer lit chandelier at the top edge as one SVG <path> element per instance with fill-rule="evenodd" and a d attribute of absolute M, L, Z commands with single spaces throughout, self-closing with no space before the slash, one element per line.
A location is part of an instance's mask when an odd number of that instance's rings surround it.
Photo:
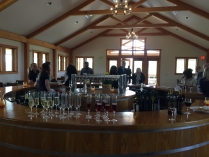
<path fill-rule="evenodd" d="M 123 11 L 124 15 L 128 15 L 131 13 L 131 6 L 128 6 L 127 0 L 114 0 L 115 6 L 110 8 L 110 11 L 113 15 L 117 15 L 119 10 Z"/>

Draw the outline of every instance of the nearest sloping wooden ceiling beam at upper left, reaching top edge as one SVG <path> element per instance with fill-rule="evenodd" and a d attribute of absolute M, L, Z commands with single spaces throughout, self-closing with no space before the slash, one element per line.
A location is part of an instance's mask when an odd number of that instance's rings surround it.
<path fill-rule="evenodd" d="M 68 11 L 67 13 L 61 15 L 60 17 L 54 19 L 53 21 L 49 22 L 48 24 L 44 25 L 43 27 L 35 30 L 34 32 L 27 35 L 27 38 L 32 38 L 41 32 L 49 29 L 50 27 L 54 26 L 55 24 L 61 22 L 62 20 L 66 19 L 67 17 L 71 16 L 75 11 L 82 9 L 83 7 L 89 5 L 90 3 L 94 2 L 95 0 L 87 0 L 84 3 L 80 4 L 79 6 L 73 8 L 72 10 Z M 87 14 L 86 14 L 87 15 Z"/>

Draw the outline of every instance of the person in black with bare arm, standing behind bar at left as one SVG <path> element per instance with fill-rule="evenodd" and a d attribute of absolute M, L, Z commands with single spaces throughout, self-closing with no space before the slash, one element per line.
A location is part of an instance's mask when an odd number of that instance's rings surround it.
<path fill-rule="evenodd" d="M 50 66 L 47 63 L 43 63 L 39 76 L 40 91 L 46 91 L 46 92 L 52 91 L 52 89 L 50 89 L 49 76 L 50 76 Z"/>

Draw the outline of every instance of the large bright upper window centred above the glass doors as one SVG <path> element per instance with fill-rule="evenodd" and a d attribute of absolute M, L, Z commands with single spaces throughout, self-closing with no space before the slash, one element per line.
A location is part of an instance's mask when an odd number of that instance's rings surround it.
<path fill-rule="evenodd" d="M 144 56 L 145 39 L 121 39 L 121 55 Z"/>

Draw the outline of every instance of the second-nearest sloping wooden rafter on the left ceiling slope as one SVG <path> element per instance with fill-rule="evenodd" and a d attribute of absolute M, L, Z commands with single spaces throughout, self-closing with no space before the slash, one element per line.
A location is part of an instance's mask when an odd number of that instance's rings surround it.
<path fill-rule="evenodd" d="M 88 25 L 87 27 L 85 27 L 85 28 L 83 28 L 83 29 L 81 29 L 81 30 L 79 30 L 79 31 L 77 31 L 77 32 L 75 32 L 75 33 L 73 33 L 73 34 L 67 36 L 66 38 L 60 40 L 60 41 L 57 42 L 55 45 L 60 45 L 60 44 L 62 44 L 62 43 L 64 43 L 64 42 L 70 40 L 71 38 L 73 38 L 73 37 L 75 37 L 75 36 L 77 36 L 77 35 L 79 35 L 79 34 L 85 32 L 85 31 L 88 30 L 88 29 L 91 29 L 93 26 L 95 26 L 95 25 L 99 24 L 100 22 L 102 22 L 102 21 L 108 19 L 109 17 L 110 17 L 109 15 L 106 15 L 106 16 L 100 18 L 99 20 L 93 22 L 92 24 Z"/>

